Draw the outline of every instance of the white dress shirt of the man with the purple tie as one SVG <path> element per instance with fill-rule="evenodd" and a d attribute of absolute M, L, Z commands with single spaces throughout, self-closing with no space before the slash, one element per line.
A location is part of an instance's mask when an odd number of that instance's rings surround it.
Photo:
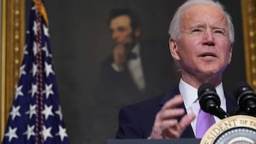
<path fill-rule="evenodd" d="M 195 89 L 191 85 L 184 82 L 182 79 L 178 84 L 179 91 L 181 92 L 181 96 L 183 97 L 183 103 L 185 105 L 187 113 L 195 113 L 196 118 L 191 122 L 191 126 L 193 128 L 193 132 L 196 135 L 196 122 L 197 115 L 200 110 L 200 104 L 198 101 L 198 89 Z M 227 111 L 226 99 L 223 90 L 223 83 L 220 83 L 217 87 L 215 87 L 218 96 L 220 97 L 220 107 Z M 215 122 L 217 123 L 220 119 L 214 116 Z"/>

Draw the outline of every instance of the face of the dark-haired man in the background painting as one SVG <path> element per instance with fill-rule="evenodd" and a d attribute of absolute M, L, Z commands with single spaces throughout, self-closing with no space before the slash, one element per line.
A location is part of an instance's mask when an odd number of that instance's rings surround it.
<path fill-rule="evenodd" d="M 115 45 L 131 45 L 134 34 L 130 18 L 126 15 L 117 16 L 110 21 L 110 31 Z"/>

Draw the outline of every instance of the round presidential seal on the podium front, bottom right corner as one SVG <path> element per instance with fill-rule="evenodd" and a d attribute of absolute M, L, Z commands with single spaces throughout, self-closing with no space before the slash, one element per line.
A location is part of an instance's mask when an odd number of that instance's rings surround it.
<path fill-rule="evenodd" d="M 230 116 L 211 126 L 200 144 L 256 144 L 256 118 Z"/>

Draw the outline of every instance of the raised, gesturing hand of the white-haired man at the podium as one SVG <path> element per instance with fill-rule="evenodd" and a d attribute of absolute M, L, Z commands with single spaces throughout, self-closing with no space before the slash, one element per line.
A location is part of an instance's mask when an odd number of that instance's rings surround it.
<path fill-rule="evenodd" d="M 179 138 L 186 127 L 196 118 L 194 113 L 185 114 L 181 121 L 177 121 L 177 116 L 182 116 L 185 111 L 176 106 L 183 103 L 181 94 L 164 104 L 163 108 L 156 114 L 154 126 L 149 138 Z"/>

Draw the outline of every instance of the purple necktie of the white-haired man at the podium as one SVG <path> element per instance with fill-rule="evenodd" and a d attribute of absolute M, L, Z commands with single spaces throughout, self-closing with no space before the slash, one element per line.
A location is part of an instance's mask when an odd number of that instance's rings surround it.
<path fill-rule="evenodd" d="M 196 138 L 202 138 L 210 126 L 215 123 L 213 115 L 204 112 L 202 109 L 198 112 L 196 123 Z"/>

